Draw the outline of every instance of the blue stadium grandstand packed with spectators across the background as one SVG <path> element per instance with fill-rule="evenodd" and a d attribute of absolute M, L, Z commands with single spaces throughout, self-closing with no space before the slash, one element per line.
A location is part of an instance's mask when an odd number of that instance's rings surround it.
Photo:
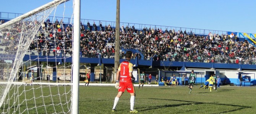
<path fill-rule="evenodd" d="M 1 16 L 0 24 L 12 18 L 14 17 Z M 28 60 L 28 55 L 42 58 L 45 56 L 48 58 L 71 56 L 73 27 L 68 24 L 69 20 L 49 16 L 41 25 L 23 60 Z M 168 67 L 165 70 L 172 71 L 209 70 L 216 74 L 219 73 L 219 75 L 222 74 L 221 78 L 225 79 L 228 76 L 222 73 L 222 70 L 235 70 L 235 73 L 240 73 L 256 69 L 255 39 L 250 38 L 255 37 L 250 33 L 122 22 L 120 25 L 122 25 L 120 27 L 120 59 L 124 59 L 126 51 L 132 51 L 133 60 L 131 62 L 138 68 L 165 69 Z M 91 63 L 92 68 L 97 64 L 113 66 L 115 22 L 81 19 L 80 28 L 81 63 Z M 6 38 L 0 45 L 8 41 L 9 38 Z M 13 52 L 11 51 L 12 47 L 6 47 L 1 51 Z M 220 70 L 218 73 L 215 71 L 217 69 Z M 207 75 L 206 71 L 204 75 Z M 94 74 L 92 78 L 94 78 Z M 237 79 L 234 76 L 233 80 L 230 79 L 229 82 L 237 83 Z"/>

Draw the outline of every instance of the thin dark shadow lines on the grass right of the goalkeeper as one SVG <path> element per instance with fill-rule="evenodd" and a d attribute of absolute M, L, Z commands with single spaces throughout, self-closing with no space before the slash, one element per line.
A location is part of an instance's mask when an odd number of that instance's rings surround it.
<path fill-rule="evenodd" d="M 230 105 L 230 104 L 219 104 L 218 102 L 212 102 L 212 103 L 204 103 L 204 102 L 196 102 L 196 101 L 185 101 L 185 100 L 171 100 L 171 99 L 159 99 L 159 98 L 149 98 L 152 100 L 169 100 L 169 101 L 180 101 L 180 102 L 186 102 L 186 103 L 181 103 L 181 104 L 173 104 L 173 105 L 160 105 L 160 106 L 152 106 L 152 107 L 141 107 L 141 108 L 146 108 L 140 111 L 146 111 L 146 110 L 151 110 L 151 109 L 159 109 L 159 108 L 166 108 L 166 107 L 175 107 L 175 106 L 184 106 L 184 105 L 200 105 L 200 104 L 214 104 L 214 105 L 224 105 L 224 106 L 236 106 L 239 107 L 238 109 L 233 109 L 230 111 L 223 111 L 223 112 L 219 112 L 219 113 L 227 113 L 227 112 L 234 112 L 234 111 L 238 111 L 241 109 L 245 109 L 245 108 L 252 108 L 251 106 L 241 106 L 241 105 Z M 137 109 L 141 109 L 141 108 L 137 108 Z"/>

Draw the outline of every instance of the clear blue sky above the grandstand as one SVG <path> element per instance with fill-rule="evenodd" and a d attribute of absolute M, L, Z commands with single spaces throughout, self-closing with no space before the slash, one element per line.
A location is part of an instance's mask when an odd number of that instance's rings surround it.
<path fill-rule="evenodd" d="M 0 12 L 23 14 L 52 0 L 4 1 Z M 66 13 L 72 1 L 66 3 Z M 256 33 L 255 0 L 120 1 L 120 22 Z M 57 13 L 62 16 L 63 11 Z M 115 21 L 115 18 L 116 0 L 81 0 L 81 19 Z"/>

